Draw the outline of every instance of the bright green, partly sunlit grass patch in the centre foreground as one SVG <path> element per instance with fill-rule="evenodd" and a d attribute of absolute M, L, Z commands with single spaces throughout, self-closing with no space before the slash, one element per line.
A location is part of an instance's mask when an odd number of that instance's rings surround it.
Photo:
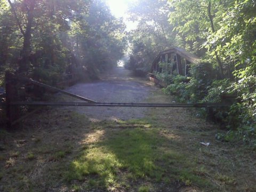
<path fill-rule="evenodd" d="M 126 124 L 127 125 L 127 124 Z M 86 175 L 97 175 L 100 187 L 118 186 L 118 173 L 126 170 L 127 179 L 161 177 L 163 169 L 156 165 L 162 139 L 157 131 L 126 129 L 106 133 L 107 138 L 84 147 L 66 175 L 68 181 L 83 180 Z"/>

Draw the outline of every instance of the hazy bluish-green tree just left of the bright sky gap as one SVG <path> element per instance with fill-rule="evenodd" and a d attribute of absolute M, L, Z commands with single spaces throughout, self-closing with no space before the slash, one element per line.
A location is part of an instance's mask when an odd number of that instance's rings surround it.
<path fill-rule="evenodd" d="M 114 67 L 125 49 L 123 21 L 114 18 L 107 5 L 98 0 L 92 1 L 89 14 L 82 18 L 74 23 L 71 34 L 85 67 L 92 72 Z"/>

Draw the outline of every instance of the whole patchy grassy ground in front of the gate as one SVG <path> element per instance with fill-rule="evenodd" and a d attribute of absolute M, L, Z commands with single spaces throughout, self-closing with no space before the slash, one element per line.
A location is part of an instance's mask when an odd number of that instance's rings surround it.
<path fill-rule="evenodd" d="M 256 191 L 255 150 L 215 140 L 218 127 L 195 113 L 158 108 L 90 122 L 42 109 L 1 130 L 0 191 Z"/>

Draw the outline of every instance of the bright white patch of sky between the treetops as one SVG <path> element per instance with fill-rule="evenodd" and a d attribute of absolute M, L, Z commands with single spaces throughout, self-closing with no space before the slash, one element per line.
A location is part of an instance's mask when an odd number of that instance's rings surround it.
<path fill-rule="evenodd" d="M 111 13 L 116 18 L 124 18 L 127 31 L 130 31 L 137 27 L 137 22 L 129 21 L 126 13 L 128 5 L 135 1 L 137 0 L 106 0 L 107 4 L 109 5 Z"/>

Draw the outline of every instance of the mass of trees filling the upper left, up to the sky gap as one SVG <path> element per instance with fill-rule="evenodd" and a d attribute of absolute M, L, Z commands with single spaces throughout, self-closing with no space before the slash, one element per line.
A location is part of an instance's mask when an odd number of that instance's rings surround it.
<path fill-rule="evenodd" d="M 94 77 L 123 56 L 124 23 L 101 0 L 1 1 L 0 6 L 1 71 L 11 68 L 55 85 L 63 74 Z"/>

